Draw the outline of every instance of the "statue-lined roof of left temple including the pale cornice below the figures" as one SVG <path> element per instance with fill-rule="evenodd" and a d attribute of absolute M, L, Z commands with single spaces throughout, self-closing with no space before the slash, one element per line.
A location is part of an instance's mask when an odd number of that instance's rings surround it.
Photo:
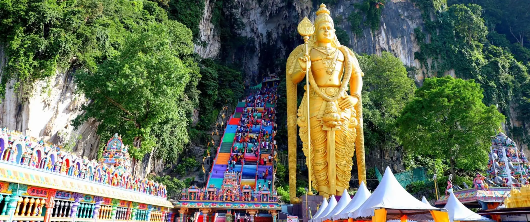
<path fill-rule="evenodd" d="M 115 134 L 96 162 L 17 131 L 0 133 L 0 181 L 172 207 L 163 184 L 133 177 L 127 146 Z"/>

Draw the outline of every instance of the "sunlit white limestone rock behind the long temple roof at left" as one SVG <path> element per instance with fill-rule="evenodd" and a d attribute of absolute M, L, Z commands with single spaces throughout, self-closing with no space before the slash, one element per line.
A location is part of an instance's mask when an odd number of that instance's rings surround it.
<path fill-rule="evenodd" d="M 3 49 L 0 45 L 0 73 L 7 61 Z M 55 76 L 34 82 L 29 95 L 21 95 L 14 90 L 14 79 L 8 82 L 5 99 L 0 103 L 0 127 L 63 145 L 77 156 L 95 159 L 100 140 L 107 142 L 109 138 L 100 138 L 96 134 L 98 122 L 94 119 L 78 129 L 71 125 L 72 120 L 82 114 L 81 105 L 90 102 L 84 95 L 76 93 L 73 71 L 58 70 Z M 164 166 L 160 162 L 148 153 L 143 161 L 134 164 L 135 172 L 140 176 L 160 172 Z"/>

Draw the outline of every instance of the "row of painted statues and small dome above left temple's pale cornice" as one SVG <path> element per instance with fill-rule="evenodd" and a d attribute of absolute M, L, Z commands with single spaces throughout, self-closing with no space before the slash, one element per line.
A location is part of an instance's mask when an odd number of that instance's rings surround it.
<path fill-rule="evenodd" d="M 105 183 L 153 196 L 163 198 L 167 196 L 163 184 L 146 178 L 133 177 L 128 147 L 123 145 L 118 134 L 110 138 L 103 150 L 103 158 L 96 162 L 79 158 L 42 140 L 37 142 L 36 138 L 24 136 L 21 132 L 3 128 L 0 134 L 0 154 L 3 161 L 30 168 Z"/>

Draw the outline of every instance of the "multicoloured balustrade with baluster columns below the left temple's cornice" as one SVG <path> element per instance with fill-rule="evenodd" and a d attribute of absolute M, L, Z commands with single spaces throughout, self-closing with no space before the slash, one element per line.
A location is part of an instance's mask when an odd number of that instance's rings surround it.
<path fill-rule="evenodd" d="M 36 196 L 37 195 L 37 196 Z M 40 196 L 40 197 L 39 197 Z M 0 221 L 154 221 L 174 219 L 171 207 L 0 182 Z M 169 215 L 169 216 L 168 216 Z"/>

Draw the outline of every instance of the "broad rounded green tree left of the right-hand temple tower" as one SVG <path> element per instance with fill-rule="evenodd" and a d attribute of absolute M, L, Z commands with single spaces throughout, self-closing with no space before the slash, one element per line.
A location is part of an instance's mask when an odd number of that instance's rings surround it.
<path fill-rule="evenodd" d="M 399 134 L 408 152 L 449 160 L 455 168 L 482 169 L 488 160 L 490 135 L 504 116 L 482 103 L 474 80 L 427 78 L 398 118 Z"/>

